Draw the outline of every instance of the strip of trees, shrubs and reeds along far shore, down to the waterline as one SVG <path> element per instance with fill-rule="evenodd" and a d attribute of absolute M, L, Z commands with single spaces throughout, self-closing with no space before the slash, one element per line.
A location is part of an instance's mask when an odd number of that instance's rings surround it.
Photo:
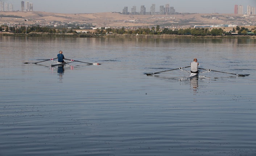
<path fill-rule="evenodd" d="M 224 28 L 223 28 L 224 29 Z M 256 28 L 249 30 L 245 27 L 236 26 L 232 31 L 224 31 L 222 28 L 186 28 L 186 29 L 160 29 L 156 28 L 138 28 L 128 29 L 123 28 L 100 28 L 95 30 L 74 30 L 74 29 L 54 29 L 48 27 L 1 27 L 0 35 L 5 36 L 29 36 L 29 37 L 136 37 L 136 38 L 216 38 L 216 37 L 246 37 L 255 38 Z"/>

